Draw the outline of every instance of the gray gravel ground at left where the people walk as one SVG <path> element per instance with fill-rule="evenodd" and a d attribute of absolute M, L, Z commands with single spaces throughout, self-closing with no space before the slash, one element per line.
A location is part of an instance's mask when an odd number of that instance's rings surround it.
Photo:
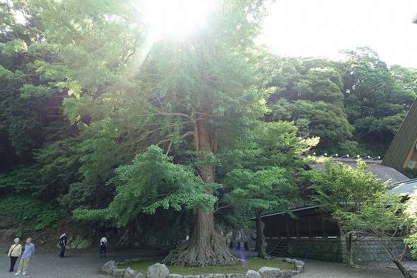
<path fill-rule="evenodd" d="M 58 258 L 56 254 L 35 254 L 28 265 L 28 274 L 24 276 L 13 275 L 8 272 L 9 258 L 0 254 L 0 278 L 26 277 L 26 278 L 108 278 L 99 272 L 101 265 L 106 261 L 123 261 L 129 258 L 158 256 L 158 252 L 149 250 L 115 251 L 109 252 L 106 258 L 100 259 L 98 252 L 75 252 L 67 250 L 66 258 Z M 17 270 L 17 265 L 15 270 Z"/>

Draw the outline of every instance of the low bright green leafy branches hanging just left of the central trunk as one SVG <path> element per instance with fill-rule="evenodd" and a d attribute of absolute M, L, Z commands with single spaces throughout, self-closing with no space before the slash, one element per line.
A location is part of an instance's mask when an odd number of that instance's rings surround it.
<path fill-rule="evenodd" d="M 205 192 L 219 186 L 202 183 L 190 167 L 172 163 L 156 146 L 136 156 L 131 164 L 118 167 L 110 183 L 116 186 L 116 195 L 108 208 L 79 208 L 74 218 L 111 219 L 121 227 L 140 213 L 155 213 L 157 208 L 210 210 L 216 198 Z"/>

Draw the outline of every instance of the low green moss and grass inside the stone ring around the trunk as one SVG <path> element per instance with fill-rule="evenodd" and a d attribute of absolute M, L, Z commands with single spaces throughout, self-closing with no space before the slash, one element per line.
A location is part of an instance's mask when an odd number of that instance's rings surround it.
<path fill-rule="evenodd" d="M 142 261 L 136 261 L 134 263 L 124 263 L 121 268 L 132 268 L 138 272 L 146 273 L 149 265 L 154 263 L 161 263 L 161 259 L 146 259 Z M 206 266 L 202 268 L 189 268 L 174 265 L 167 265 L 170 273 L 177 273 L 181 275 L 199 275 L 206 273 L 246 273 L 247 270 L 259 270 L 263 266 L 269 266 L 271 268 L 281 268 L 283 270 L 293 270 L 294 266 L 290 263 L 277 260 L 263 260 L 263 259 L 249 259 L 246 265 L 227 265 L 227 266 Z"/>

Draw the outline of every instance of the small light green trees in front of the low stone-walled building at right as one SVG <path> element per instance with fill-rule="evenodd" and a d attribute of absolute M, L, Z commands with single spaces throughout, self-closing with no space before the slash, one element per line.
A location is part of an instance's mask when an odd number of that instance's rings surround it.
<path fill-rule="evenodd" d="M 352 169 L 342 163 L 328 161 L 324 171 L 313 175 L 313 197 L 319 207 L 330 213 L 346 240 L 346 250 L 352 264 L 352 238 L 371 235 L 377 238 L 386 254 L 403 272 L 402 254 L 391 243 L 395 236 L 406 236 L 411 227 L 402 197 L 389 195 L 389 181 L 383 182 L 367 170 L 366 163 L 357 161 Z M 405 268 L 404 268 L 405 269 Z M 404 272 L 404 277 L 408 277 Z"/>

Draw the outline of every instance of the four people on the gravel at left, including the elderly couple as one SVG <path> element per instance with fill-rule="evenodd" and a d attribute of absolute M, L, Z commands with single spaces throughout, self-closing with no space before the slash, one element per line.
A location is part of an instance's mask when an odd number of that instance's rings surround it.
<path fill-rule="evenodd" d="M 35 254 L 35 245 L 32 243 L 32 238 L 26 239 L 26 245 L 24 246 L 22 254 L 22 245 L 20 245 L 20 239 L 15 238 L 15 243 L 10 246 L 8 256 L 10 257 L 10 270 L 9 272 L 15 271 L 15 264 L 20 255 L 22 255 L 19 266 L 17 267 L 17 272 L 15 275 L 26 275 L 26 270 L 28 269 L 28 263 L 33 254 Z M 65 249 L 67 247 L 67 233 L 62 234 L 59 237 L 59 246 L 60 252 L 59 257 L 65 258 Z M 107 238 L 103 236 L 100 238 L 100 258 L 103 258 L 107 255 Z"/>

